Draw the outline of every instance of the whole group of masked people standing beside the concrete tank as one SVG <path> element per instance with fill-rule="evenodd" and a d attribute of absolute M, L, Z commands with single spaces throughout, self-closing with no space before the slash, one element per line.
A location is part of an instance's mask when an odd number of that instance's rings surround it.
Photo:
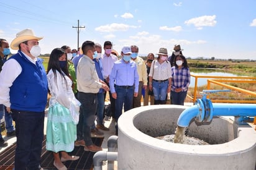
<path fill-rule="evenodd" d="M 104 42 L 104 54 L 101 45 L 85 41 L 78 51 L 69 46 L 53 49 L 45 72 L 38 57 L 41 39 L 30 29 L 17 33 L 11 48 L 18 52 L 7 61 L 9 43 L 0 40 L 0 106 L 6 119 L 9 116 L 16 123 L 11 131 L 6 126 L 7 135 L 15 132 L 17 137 L 16 169 L 40 169 L 48 94 L 46 148 L 53 152 L 53 165 L 62 170 L 66 169 L 64 161 L 79 159 L 68 155 L 75 146 L 83 146 L 85 151 L 102 150 L 94 145 L 91 134 L 109 130 L 103 120 L 107 92 L 116 135 L 122 108 L 140 107 L 142 96 L 144 105 L 149 98 L 150 104 L 165 104 L 171 92 L 171 104 L 184 104 L 190 70 L 180 45 L 175 45 L 170 58 L 167 49 L 160 48 L 157 59 L 149 53 L 144 62 L 138 56 L 138 46 L 124 46 L 118 59 L 111 41 Z M 0 137 L 0 145 L 1 141 Z"/>

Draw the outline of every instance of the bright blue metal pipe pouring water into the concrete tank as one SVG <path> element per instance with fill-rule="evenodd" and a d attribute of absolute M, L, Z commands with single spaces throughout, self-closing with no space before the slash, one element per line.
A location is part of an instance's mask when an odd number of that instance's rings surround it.
<path fill-rule="evenodd" d="M 206 117 L 207 114 L 208 117 Z M 198 122 L 210 122 L 213 116 L 256 116 L 256 104 L 212 104 L 210 100 L 199 99 L 196 105 L 185 109 L 180 114 L 177 124 L 180 127 L 188 127 L 194 117 Z"/>

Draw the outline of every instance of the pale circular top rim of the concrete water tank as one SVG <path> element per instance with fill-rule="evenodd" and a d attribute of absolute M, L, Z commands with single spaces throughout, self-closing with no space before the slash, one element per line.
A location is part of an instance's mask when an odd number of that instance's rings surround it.
<path fill-rule="evenodd" d="M 121 130 L 122 134 L 127 135 L 131 140 L 135 140 L 143 145 L 149 147 L 158 148 L 159 150 L 165 150 L 175 153 L 183 153 L 189 155 L 233 155 L 245 150 L 249 150 L 256 145 L 256 132 L 252 132 L 252 128 L 239 128 L 239 137 L 231 140 L 230 142 L 216 144 L 216 145 L 186 145 L 180 143 L 170 143 L 157 138 L 150 137 L 143 132 L 140 132 L 134 126 L 134 119 L 139 116 L 140 113 L 152 110 L 152 109 L 171 109 L 171 108 L 181 108 L 186 109 L 189 106 L 179 106 L 179 105 L 153 105 L 153 106 L 142 106 L 140 108 L 134 108 L 126 113 L 123 113 L 118 120 L 118 128 Z M 219 150 L 221 148 L 221 150 Z M 209 153 L 211 151 L 211 153 Z"/>

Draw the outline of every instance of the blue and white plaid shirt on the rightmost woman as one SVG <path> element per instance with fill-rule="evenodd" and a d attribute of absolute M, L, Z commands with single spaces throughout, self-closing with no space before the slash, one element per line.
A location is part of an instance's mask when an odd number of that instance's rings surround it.
<path fill-rule="evenodd" d="M 181 88 L 182 91 L 188 91 L 190 85 L 190 69 L 188 67 L 182 67 L 181 69 L 171 67 L 171 91 L 175 91 L 176 88 Z"/>

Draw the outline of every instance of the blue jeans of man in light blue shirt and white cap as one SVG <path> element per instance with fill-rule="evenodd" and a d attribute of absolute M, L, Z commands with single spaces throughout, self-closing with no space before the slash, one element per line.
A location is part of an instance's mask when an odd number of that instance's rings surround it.
<path fill-rule="evenodd" d="M 124 88 L 116 85 L 116 122 L 122 114 L 122 106 L 124 106 L 124 111 L 132 109 L 132 104 L 134 100 L 134 86 L 129 88 Z"/>

